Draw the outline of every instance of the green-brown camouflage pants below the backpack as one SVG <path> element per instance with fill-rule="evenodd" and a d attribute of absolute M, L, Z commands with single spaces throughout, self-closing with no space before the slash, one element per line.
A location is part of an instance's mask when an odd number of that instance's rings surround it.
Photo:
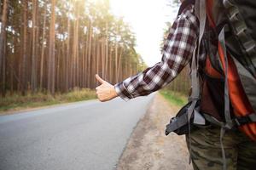
<path fill-rule="evenodd" d="M 199 128 L 191 133 L 191 159 L 195 170 L 221 170 L 223 157 L 220 127 Z M 189 138 L 186 136 L 189 147 Z M 256 142 L 240 131 L 226 131 L 223 138 L 227 170 L 256 169 Z"/>

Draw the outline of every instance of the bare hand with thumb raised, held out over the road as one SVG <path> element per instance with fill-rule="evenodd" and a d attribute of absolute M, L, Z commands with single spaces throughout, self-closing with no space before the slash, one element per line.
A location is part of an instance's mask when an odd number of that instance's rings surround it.
<path fill-rule="evenodd" d="M 112 84 L 104 81 L 99 75 L 96 74 L 96 80 L 101 83 L 96 87 L 96 94 L 100 101 L 108 101 L 118 96 Z"/>

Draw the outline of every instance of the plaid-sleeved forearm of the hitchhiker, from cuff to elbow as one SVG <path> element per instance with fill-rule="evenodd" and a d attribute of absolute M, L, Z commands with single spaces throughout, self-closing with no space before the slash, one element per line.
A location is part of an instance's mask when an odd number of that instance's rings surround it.
<path fill-rule="evenodd" d="M 115 84 L 114 88 L 119 97 L 126 101 L 138 96 L 145 96 L 172 82 L 186 64 L 187 62 L 168 62 L 163 56 L 161 62 L 134 77 L 129 77 L 125 81 Z"/>

